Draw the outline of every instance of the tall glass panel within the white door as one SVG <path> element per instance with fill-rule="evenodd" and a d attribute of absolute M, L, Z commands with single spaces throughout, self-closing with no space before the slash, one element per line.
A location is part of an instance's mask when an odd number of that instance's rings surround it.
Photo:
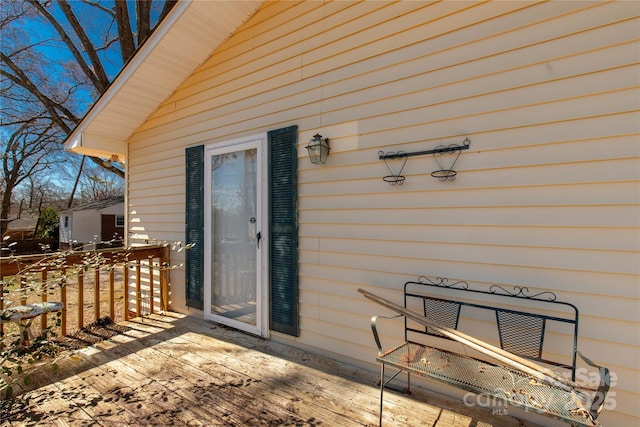
<path fill-rule="evenodd" d="M 257 150 L 211 157 L 211 313 L 256 325 Z"/>

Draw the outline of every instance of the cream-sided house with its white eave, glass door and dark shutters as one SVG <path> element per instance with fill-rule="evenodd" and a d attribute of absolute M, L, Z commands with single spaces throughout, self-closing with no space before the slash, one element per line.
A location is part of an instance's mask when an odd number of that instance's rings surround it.
<path fill-rule="evenodd" d="M 173 310 L 373 367 L 359 287 L 550 290 L 616 375 L 600 420 L 638 425 L 639 9 L 180 1 L 66 146 L 126 160 L 127 244 L 196 243 Z M 466 138 L 455 180 L 379 159 Z"/>

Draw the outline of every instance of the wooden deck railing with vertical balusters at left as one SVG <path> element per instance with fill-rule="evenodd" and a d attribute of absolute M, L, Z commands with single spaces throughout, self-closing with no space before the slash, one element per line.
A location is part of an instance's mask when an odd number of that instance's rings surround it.
<path fill-rule="evenodd" d="M 33 302 L 62 302 L 62 335 L 67 335 L 70 329 L 83 328 L 87 315 L 95 320 L 106 316 L 101 309 L 105 299 L 108 315 L 114 321 L 119 320 L 117 312 L 129 320 L 156 309 L 166 311 L 168 266 L 169 247 L 164 245 L 2 257 L 0 310 Z M 118 288 L 122 290 L 121 298 L 116 298 Z M 86 301 L 85 295 L 90 293 L 93 298 Z M 73 328 L 68 327 L 70 323 Z M 39 326 L 47 328 L 46 314 L 40 316 Z M 3 332 L 4 324 L 0 322 L 0 336 Z"/>

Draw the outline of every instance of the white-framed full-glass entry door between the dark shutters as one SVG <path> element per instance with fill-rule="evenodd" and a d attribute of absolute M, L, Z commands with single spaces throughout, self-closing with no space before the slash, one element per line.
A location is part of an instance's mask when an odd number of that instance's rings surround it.
<path fill-rule="evenodd" d="M 205 318 L 266 336 L 264 138 L 205 155 Z"/>

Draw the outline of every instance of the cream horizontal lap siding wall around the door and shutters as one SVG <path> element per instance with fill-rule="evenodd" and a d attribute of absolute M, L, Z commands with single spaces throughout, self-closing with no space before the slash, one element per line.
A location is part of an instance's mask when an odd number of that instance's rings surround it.
<path fill-rule="evenodd" d="M 265 3 L 129 141 L 129 243 L 184 240 L 186 147 L 296 124 L 301 335 L 275 338 L 364 364 L 380 310 L 359 287 L 399 300 L 428 274 L 551 290 L 580 309 L 581 351 L 616 375 L 603 424 L 636 425 L 639 8 Z M 316 132 L 324 166 L 306 159 Z M 383 182 L 380 151 L 465 138 L 455 181 L 426 156 Z M 188 312 L 183 270 L 171 286 Z"/>

